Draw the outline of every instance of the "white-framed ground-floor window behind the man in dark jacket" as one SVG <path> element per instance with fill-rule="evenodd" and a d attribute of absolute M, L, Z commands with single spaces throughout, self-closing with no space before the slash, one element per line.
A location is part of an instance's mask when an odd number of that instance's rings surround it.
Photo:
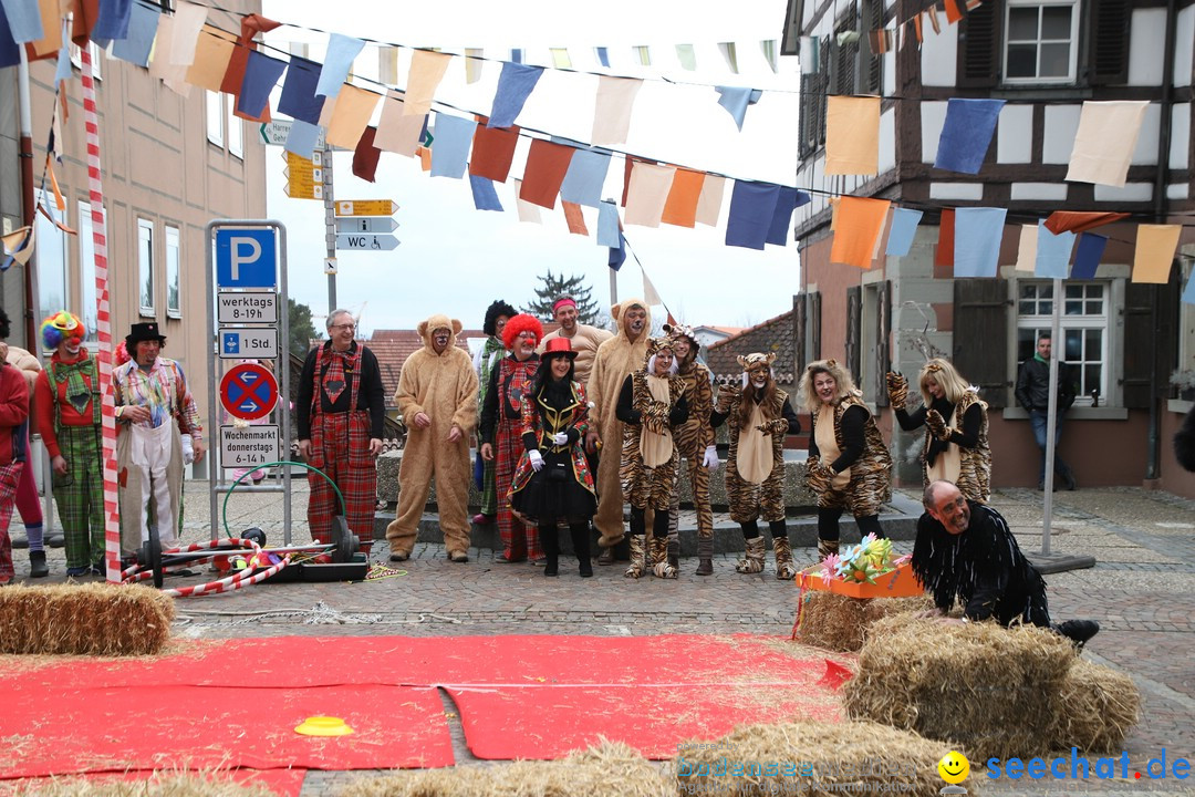
<path fill-rule="evenodd" d="M 1109 288 L 1107 282 L 1078 282 L 1062 288 L 1059 360 L 1076 382 L 1077 406 L 1108 401 Z M 1017 362 L 1034 356 L 1037 338 L 1050 331 L 1054 283 L 1021 282 L 1017 287 Z"/>

